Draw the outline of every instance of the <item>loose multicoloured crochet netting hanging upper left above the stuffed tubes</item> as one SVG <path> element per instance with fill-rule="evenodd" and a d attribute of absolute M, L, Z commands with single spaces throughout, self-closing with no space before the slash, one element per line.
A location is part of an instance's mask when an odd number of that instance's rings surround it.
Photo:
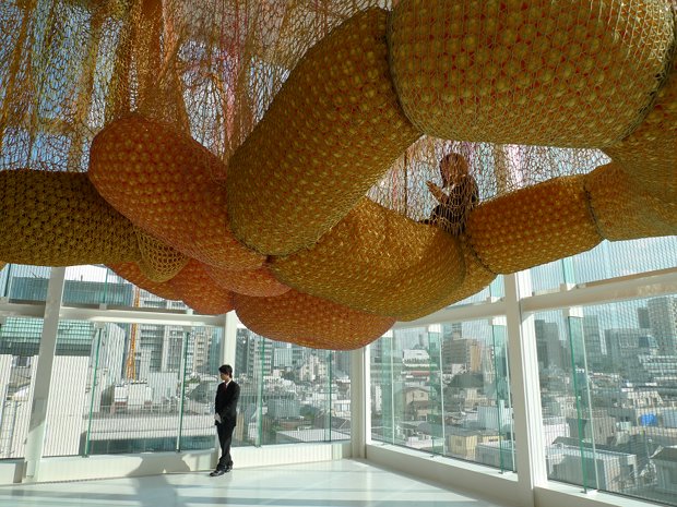
<path fill-rule="evenodd" d="M 227 160 L 302 55 L 379 0 L 4 0 L 1 167 L 86 169 L 88 144 L 132 110 Z"/>

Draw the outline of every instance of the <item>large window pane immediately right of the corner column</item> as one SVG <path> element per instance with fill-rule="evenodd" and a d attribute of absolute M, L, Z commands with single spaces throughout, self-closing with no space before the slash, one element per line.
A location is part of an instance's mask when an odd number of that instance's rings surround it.
<path fill-rule="evenodd" d="M 375 440 L 514 470 L 502 319 L 395 329 L 371 369 Z"/>

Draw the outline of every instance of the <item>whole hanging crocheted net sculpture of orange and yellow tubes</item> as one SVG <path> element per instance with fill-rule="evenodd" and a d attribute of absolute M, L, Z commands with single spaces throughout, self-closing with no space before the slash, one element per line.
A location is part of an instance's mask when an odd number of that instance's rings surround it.
<path fill-rule="evenodd" d="M 677 0 L 8 0 L 0 261 L 351 349 L 677 233 Z M 1 263 L 0 263 L 1 264 Z"/>

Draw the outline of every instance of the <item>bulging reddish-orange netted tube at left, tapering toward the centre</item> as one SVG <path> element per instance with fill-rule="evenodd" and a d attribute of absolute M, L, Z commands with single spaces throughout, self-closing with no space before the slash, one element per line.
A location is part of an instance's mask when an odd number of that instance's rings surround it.
<path fill-rule="evenodd" d="M 96 136 L 88 174 L 135 225 L 186 255 L 230 269 L 257 268 L 264 257 L 229 232 L 225 195 L 212 178 L 222 166 L 189 136 L 134 114 Z"/>

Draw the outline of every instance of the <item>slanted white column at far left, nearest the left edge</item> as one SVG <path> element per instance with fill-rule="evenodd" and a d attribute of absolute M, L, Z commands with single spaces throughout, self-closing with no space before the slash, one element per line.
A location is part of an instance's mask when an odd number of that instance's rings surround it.
<path fill-rule="evenodd" d="M 47 286 L 47 300 L 45 301 L 45 315 L 43 317 L 43 335 L 40 336 L 40 347 L 35 369 L 33 408 L 31 410 L 28 436 L 26 438 L 24 458 L 26 482 L 38 480 L 38 469 L 43 458 L 45 433 L 49 422 L 47 418 L 47 400 L 49 398 L 51 370 L 57 351 L 57 329 L 59 327 L 59 311 L 61 310 L 64 279 L 64 267 L 51 268 L 49 285 Z"/>

